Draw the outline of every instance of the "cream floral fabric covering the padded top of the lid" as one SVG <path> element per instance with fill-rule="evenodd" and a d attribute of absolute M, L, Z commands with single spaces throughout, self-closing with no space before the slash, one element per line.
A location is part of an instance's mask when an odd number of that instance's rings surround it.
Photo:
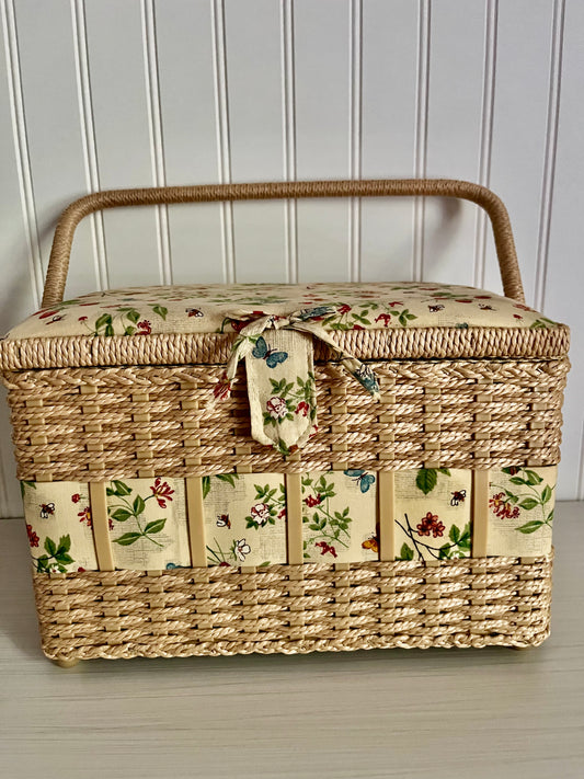
<path fill-rule="evenodd" d="M 557 327 L 523 303 L 473 287 L 403 282 L 210 284 L 91 293 L 37 311 L 7 337 L 229 333 L 262 316 L 319 307 L 327 331 Z"/>

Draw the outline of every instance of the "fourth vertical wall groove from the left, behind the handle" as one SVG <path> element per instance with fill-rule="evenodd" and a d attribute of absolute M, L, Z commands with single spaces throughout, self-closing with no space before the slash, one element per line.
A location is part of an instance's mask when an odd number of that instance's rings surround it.
<path fill-rule="evenodd" d="M 229 148 L 229 103 L 227 94 L 227 51 L 225 33 L 225 0 L 213 0 L 211 4 L 213 53 L 215 69 L 215 105 L 217 111 L 217 146 L 219 159 L 219 181 L 231 181 L 231 154 Z M 236 280 L 236 253 L 233 236 L 233 207 L 222 203 L 221 229 L 224 247 L 224 276 L 228 284 Z"/>

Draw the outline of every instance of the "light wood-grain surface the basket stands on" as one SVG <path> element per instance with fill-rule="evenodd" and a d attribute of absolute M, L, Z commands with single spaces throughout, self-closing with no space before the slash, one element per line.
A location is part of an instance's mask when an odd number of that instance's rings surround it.
<path fill-rule="evenodd" d="M 584 778 L 584 504 L 560 504 L 552 637 L 505 649 L 90 661 L 38 649 L 0 522 L 0 776 Z"/>

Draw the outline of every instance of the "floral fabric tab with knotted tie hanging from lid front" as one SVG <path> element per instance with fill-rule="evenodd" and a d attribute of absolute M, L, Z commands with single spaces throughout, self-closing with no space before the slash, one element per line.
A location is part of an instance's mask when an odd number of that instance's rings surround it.
<path fill-rule="evenodd" d="M 252 436 L 283 455 L 302 447 L 318 432 L 313 337 L 330 346 L 341 365 L 379 400 L 374 370 L 340 348 L 318 323 L 334 310 L 318 306 L 283 317 L 238 309 L 227 317 L 238 325 L 256 318 L 239 330 L 215 399 L 229 397 L 238 364 L 245 359 Z"/>

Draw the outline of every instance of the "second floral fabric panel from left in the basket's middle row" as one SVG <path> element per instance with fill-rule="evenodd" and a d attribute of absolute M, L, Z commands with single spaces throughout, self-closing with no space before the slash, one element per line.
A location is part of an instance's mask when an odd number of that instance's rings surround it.
<path fill-rule="evenodd" d="M 106 488 L 114 564 L 131 571 L 191 565 L 183 479 L 124 479 Z"/>

